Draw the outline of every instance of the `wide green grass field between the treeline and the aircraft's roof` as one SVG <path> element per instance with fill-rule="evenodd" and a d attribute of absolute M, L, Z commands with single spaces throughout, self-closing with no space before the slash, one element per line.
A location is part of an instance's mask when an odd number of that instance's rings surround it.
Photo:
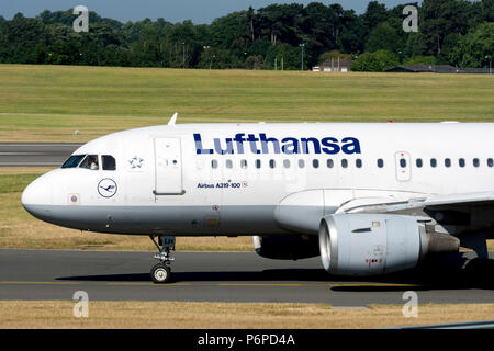
<path fill-rule="evenodd" d="M 487 75 L 0 65 L 0 141 L 86 141 L 176 111 L 179 123 L 492 121 L 493 88 Z"/>

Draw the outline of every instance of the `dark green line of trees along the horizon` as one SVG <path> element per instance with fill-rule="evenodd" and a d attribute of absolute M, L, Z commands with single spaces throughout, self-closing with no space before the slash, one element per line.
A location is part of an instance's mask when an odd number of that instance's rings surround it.
<path fill-rule="evenodd" d="M 175 68 L 310 69 L 332 57 L 353 70 L 397 64 L 489 67 L 494 0 L 424 0 L 418 32 L 405 33 L 403 5 L 369 2 L 357 15 L 339 4 L 271 4 L 195 25 L 165 19 L 121 23 L 94 12 L 76 33 L 72 9 L 36 18 L 0 15 L 0 63 Z M 274 66 L 277 65 L 277 66 Z"/>

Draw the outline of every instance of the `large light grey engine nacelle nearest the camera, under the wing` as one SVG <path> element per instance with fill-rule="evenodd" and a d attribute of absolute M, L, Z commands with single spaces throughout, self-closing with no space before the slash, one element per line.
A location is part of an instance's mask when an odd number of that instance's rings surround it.
<path fill-rule="evenodd" d="M 427 233 L 416 217 L 335 214 L 319 226 L 324 269 L 338 275 L 378 275 L 415 268 L 429 252 L 454 252 L 460 240 Z"/>

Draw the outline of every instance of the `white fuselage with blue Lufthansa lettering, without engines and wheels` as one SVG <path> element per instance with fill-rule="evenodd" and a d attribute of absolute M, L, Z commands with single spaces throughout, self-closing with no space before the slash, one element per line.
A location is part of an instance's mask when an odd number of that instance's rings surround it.
<path fill-rule="evenodd" d="M 97 170 L 50 171 L 22 201 L 43 220 L 82 230 L 287 234 L 287 216 L 312 220 L 356 199 L 490 191 L 492 135 L 489 123 L 146 127 L 83 145 L 74 155 L 97 156 Z M 102 169 L 103 156 L 116 169 Z"/>

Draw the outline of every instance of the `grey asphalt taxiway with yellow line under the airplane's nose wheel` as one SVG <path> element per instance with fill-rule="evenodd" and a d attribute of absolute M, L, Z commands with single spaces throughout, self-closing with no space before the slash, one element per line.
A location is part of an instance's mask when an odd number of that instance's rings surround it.
<path fill-rule="evenodd" d="M 0 249 L 0 299 L 290 302 L 358 307 L 494 303 L 494 285 L 472 285 L 459 269 L 465 258 L 374 279 L 328 275 L 319 258 L 279 261 L 254 252 L 175 252 L 172 282 L 155 284 L 153 252 Z M 448 262 L 451 261 L 451 262 Z"/>

